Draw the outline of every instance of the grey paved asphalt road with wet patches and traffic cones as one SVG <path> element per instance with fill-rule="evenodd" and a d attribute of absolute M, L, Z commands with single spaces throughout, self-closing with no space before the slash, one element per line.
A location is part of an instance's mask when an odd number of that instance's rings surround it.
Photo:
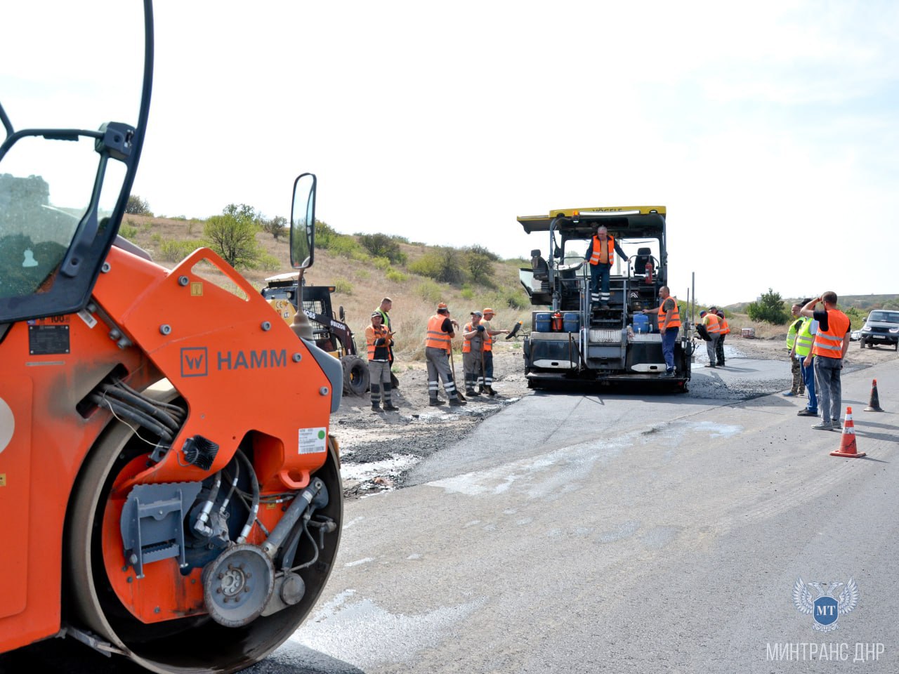
<path fill-rule="evenodd" d="M 844 376 L 868 457 L 800 401 L 528 396 L 348 503 L 316 614 L 251 671 L 895 674 L 899 361 Z M 815 631 L 799 578 L 857 606 Z"/>

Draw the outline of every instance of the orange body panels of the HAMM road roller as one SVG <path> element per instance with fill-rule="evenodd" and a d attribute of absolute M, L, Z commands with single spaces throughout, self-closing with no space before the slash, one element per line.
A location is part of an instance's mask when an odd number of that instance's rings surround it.
<path fill-rule="evenodd" d="M 246 297 L 195 274 L 201 261 Z M 134 466 L 116 484 L 103 527 L 111 584 L 147 623 L 200 610 L 200 571 L 182 576 L 169 559 L 133 578 L 115 533 L 130 486 L 203 480 L 227 465 L 248 433 L 263 493 L 297 490 L 325 463 L 330 382 L 245 279 L 207 249 L 174 270 L 118 248 L 107 262 L 93 313 L 13 324 L 0 341 L 0 512 L 8 536 L 0 545 L 0 652 L 60 629 L 67 503 L 85 457 L 114 421 L 85 396 L 113 371 L 138 390 L 167 378 L 188 409 L 165 457 Z M 184 465 L 184 440 L 196 435 L 219 446 L 209 471 Z M 261 510 L 260 519 L 271 530 L 280 512 Z M 254 528 L 251 539 L 259 536 Z"/>

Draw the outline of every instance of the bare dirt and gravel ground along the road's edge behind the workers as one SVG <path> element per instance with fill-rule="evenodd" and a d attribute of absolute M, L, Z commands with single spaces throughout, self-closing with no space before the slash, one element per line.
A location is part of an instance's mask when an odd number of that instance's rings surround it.
<path fill-rule="evenodd" d="M 725 343 L 731 350 L 729 358 L 783 360 L 784 376 L 788 379 L 785 338 L 786 333 L 772 339 L 746 339 L 734 335 Z M 704 356 L 704 349 L 698 346 L 694 357 L 697 363 Z M 846 363 L 848 366 L 868 366 L 897 357 L 899 354 L 892 347 L 861 349 L 859 342 L 853 341 L 846 354 Z M 456 379 L 463 380 L 461 359 L 454 359 Z M 478 423 L 530 394 L 524 377 L 521 341 L 496 342 L 494 389 L 499 395 L 493 398 L 469 396 L 463 407 L 429 406 L 427 371 L 423 362 L 406 363 L 399 359 L 394 371 L 400 384 L 395 389 L 393 402 L 399 412 L 372 412 L 366 394 L 364 397 L 344 396 L 340 410 L 332 415 L 331 432 L 341 446 L 346 498 L 396 489 L 402 485 L 404 472 L 423 457 L 464 438 Z"/>

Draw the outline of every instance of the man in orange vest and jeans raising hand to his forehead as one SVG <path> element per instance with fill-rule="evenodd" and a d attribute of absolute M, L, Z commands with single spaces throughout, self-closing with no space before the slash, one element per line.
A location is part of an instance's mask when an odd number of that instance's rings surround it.
<path fill-rule="evenodd" d="M 815 311 L 818 303 L 823 309 Z M 821 409 L 821 423 L 815 424 L 814 430 L 839 430 L 841 383 L 840 370 L 846 351 L 849 350 L 850 320 L 837 308 L 837 294 L 828 290 L 821 297 L 808 301 L 799 312 L 801 315 L 814 318 L 818 322 L 818 332 L 814 335 L 812 352 L 806 356 L 806 368 L 812 363 L 814 355 L 815 389 Z"/>

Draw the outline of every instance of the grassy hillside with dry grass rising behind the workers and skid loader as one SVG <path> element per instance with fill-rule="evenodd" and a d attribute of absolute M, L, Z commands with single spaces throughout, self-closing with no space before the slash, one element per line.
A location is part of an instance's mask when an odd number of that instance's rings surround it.
<path fill-rule="evenodd" d="M 203 222 L 199 220 L 145 217 L 127 215 L 123 219 L 121 235 L 128 238 L 153 256 L 159 264 L 171 269 L 194 249 L 203 245 Z M 492 280 L 477 283 L 460 279 L 458 283 L 441 283 L 427 276 L 414 273 L 410 267 L 423 257 L 444 252 L 445 249 L 424 244 L 397 242 L 405 256 L 404 263 L 389 262 L 385 258 L 372 257 L 360 247 L 353 247 L 352 239 L 358 237 L 340 235 L 343 244 L 334 249 L 316 248 L 315 262 L 307 270 L 307 283 L 318 286 L 335 286 L 334 306 L 343 306 L 347 323 L 356 333 L 356 343 L 364 350 L 365 326 L 370 314 L 382 297 L 393 299 L 390 312 L 396 331 L 396 351 L 405 359 L 423 359 L 424 327 L 439 302 L 449 305 L 452 317 L 459 324 L 470 318 L 469 312 L 485 306 L 497 312 L 494 325 L 511 328 L 518 320 L 530 320 L 528 297 L 518 279 L 520 266 L 530 266 L 523 261 L 491 262 Z M 269 269 L 241 270 L 241 274 L 254 288 L 263 288 L 265 278 L 290 271 L 288 240 L 275 239 L 260 232 L 257 243 L 277 263 Z M 218 285 L 235 290 L 235 286 L 217 270 L 197 269 L 197 273 Z"/>

